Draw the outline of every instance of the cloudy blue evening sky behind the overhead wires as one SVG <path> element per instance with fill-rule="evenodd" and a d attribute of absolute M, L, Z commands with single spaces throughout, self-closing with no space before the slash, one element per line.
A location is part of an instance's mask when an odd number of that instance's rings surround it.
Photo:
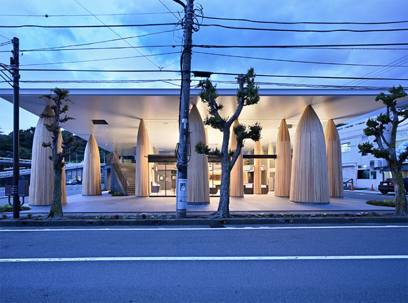
<path fill-rule="evenodd" d="M 407 0 L 201 0 L 203 14 L 207 17 L 245 18 L 279 22 L 388 22 L 408 20 Z M 166 7 L 167 6 L 167 7 Z M 170 13 L 170 11 L 173 13 Z M 181 6 L 172 0 L 1 0 L 1 25 L 101 25 L 105 24 L 146 24 L 174 23 L 180 15 Z M 49 17 L 44 17 L 47 14 Z M 94 15 L 96 16 L 94 16 Z M 116 14 L 116 15 L 101 15 Z M 13 15 L 13 16 L 6 16 Z M 18 16 L 15 16 L 18 15 Z M 34 16 L 26 16 L 34 15 Z M 63 15 L 63 16 L 57 16 Z M 81 15 L 81 16 L 72 16 Z M 182 14 L 181 14 L 182 15 Z M 234 20 L 199 19 L 202 24 L 222 24 L 237 27 L 279 28 L 279 29 L 390 29 L 408 28 L 408 22 L 395 24 L 265 24 Z M 119 36 L 141 36 L 126 39 L 132 46 L 141 48 L 64 50 L 64 51 L 23 51 L 20 53 L 21 68 L 62 68 L 62 69 L 135 69 L 135 70 L 179 70 L 180 46 L 146 47 L 155 45 L 180 45 L 180 26 L 113 27 L 109 28 L 0 28 L 0 43 L 18 37 L 20 49 L 38 49 L 58 46 L 99 42 L 118 39 Z M 162 32 L 167 31 L 167 32 Z M 115 33 L 116 32 L 116 33 Z M 162 32 L 162 33 L 158 33 Z M 155 34 L 153 34 L 155 33 Z M 124 40 L 96 43 L 82 47 L 124 47 Z M 364 44 L 364 43 L 405 43 L 408 31 L 379 32 L 290 32 L 228 29 L 201 26 L 193 34 L 194 44 L 210 45 L 311 45 L 311 44 Z M 381 47 L 381 46 L 380 46 Z M 407 48 L 385 46 L 385 48 Z M 0 50 L 10 50 L 4 45 Z M 258 74 L 311 75 L 342 77 L 407 78 L 407 67 L 352 66 L 316 63 L 285 62 L 295 60 L 349 64 L 408 65 L 408 51 L 404 49 L 304 49 L 304 48 L 194 48 L 192 70 L 244 73 L 253 66 Z M 203 54 L 207 52 L 213 54 Z M 214 55 L 217 54 L 217 55 Z M 275 60 L 261 60 L 220 56 L 219 54 L 243 57 L 258 57 Z M 10 52 L 0 52 L 0 62 L 8 64 Z M 149 55 L 144 57 L 142 55 Z M 112 59 L 122 58 L 124 59 Z M 129 58 L 130 57 L 130 58 Z M 99 60 L 111 59 L 111 60 Z M 99 60 L 99 61 L 95 61 Z M 71 61 L 86 61 L 62 63 Z M 46 64 L 43 63 L 55 63 Z M 58 63 L 58 64 L 56 64 Z M 43 64 L 43 65 L 30 65 Z M 21 71 L 21 81 L 50 80 L 152 80 L 179 79 L 178 73 L 113 73 L 113 72 L 46 72 Z M 212 75 L 212 80 L 233 81 L 234 76 Z M 364 86 L 407 86 L 407 81 L 395 80 L 347 80 L 347 79 L 305 79 L 289 77 L 257 77 L 259 82 L 297 83 L 324 85 Z M 173 83 L 173 84 L 172 84 Z M 79 87 L 177 87 L 180 81 L 149 83 L 20 83 L 21 88 L 79 88 Z M 197 82 L 193 82 L 197 84 Z M 236 84 L 218 83 L 218 87 L 235 87 Z M 8 88 L 7 83 L 0 83 Z M 261 85 L 277 88 L 277 85 Z M 0 127 L 8 133 L 12 129 L 12 105 L 0 99 Z M 35 126 L 37 117 L 21 111 L 20 128 Z"/>

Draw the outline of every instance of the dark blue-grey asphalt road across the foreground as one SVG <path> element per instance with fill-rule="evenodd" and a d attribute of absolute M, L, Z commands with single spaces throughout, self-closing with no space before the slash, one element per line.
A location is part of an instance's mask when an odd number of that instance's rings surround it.
<path fill-rule="evenodd" d="M 7 230 L 1 302 L 408 302 L 403 225 Z"/>

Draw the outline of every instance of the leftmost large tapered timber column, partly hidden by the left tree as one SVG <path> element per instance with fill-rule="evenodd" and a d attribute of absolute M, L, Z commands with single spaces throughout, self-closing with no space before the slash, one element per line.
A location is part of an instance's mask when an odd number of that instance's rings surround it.
<path fill-rule="evenodd" d="M 44 115 L 53 115 L 49 105 L 42 112 Z M 54 187 L 52 170 L 51 148 L 43 147 L 42 142 L 51 142 L 51 132 L 46 130 L 44 124 L 51 124 L 54 118 L 39 118 L 35 127 L 32 140 L 31 177 L 29 188 L 29 205 L 51 205 Z M 65 182 L 64 182 L 65 184 Z"/>

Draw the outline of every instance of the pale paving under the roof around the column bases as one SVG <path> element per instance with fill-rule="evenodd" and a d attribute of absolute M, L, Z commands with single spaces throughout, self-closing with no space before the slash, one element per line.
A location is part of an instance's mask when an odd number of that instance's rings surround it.
<path fill-rule="evenodd" d="M 218 207 L 219 197 L 211 197 L 210 204 L 205 206 L 188 206 L 188 212 L 214 212 Z M 331 198 L 330 205 L 303 205 L 289 202 L 288 198 L 275 197 L 273 192 L 268 195 L 245 195 L 243 198 L 230 198 L 231 212 L 279 212 L 279 211 L 392 211 L 393 208 L 365 204 L 364 199 Z M 27 203 L 28 204 L 28 203 Z M 27 205 L 25 204 L 25 205 Z M 135 198 L 129 196 L 112 197 L 108 192 L 101 196 L 72 195 L 67 197 L 67 204 L 63 206 L 64 213 L 140 213 L 140 212 L 175 212 L 175 197 L 146 197 Z M 29 211 L 35 213 L 49 212 L 49 206 L 31 207 Z"/>

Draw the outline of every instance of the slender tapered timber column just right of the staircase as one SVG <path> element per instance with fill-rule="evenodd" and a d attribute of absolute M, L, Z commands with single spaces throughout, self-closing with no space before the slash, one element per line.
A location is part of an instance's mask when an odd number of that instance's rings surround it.
<path fill-rule="evenodd" d="M 135 196 L 149 196 L 149 140 L 147 137 L 145 121 L 139 123 L 138 137 L 136 142 L 136 179 Z"/>

